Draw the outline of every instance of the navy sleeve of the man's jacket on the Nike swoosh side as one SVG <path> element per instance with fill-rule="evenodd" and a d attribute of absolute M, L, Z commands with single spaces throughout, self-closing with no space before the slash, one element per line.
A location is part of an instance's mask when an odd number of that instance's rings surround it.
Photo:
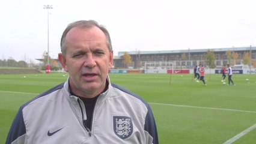
<path fill-rule="evenodd" d="M 20 107 L 16 117 L 13 120 L 13 124 L 11 124 L 11 128 L 5 143 L 25 143 L 25 134 L 26 127 L 23 120 L 22 107 Z"/>

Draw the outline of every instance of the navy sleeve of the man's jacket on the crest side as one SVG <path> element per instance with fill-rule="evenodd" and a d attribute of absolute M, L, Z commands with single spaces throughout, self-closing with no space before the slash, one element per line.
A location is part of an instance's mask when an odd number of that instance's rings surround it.
<path fill-rule="evenodd" d="M 144 130 L 148 132 L 148 143 L 158 144 L 158 135 L 157 135 L 157 128 L 156 128 L 156 121 L 154 120 L 153 112 L 148 105 L 148 113 L 145 118 L 145 125 Z M 146 135 L 147 136 L 147 135 Z"/>

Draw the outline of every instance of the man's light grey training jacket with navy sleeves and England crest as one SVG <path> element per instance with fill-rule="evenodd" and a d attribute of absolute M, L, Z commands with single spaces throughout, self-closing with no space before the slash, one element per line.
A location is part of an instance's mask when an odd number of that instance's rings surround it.
<path fill-rule="evenodd" d="M 6 143 L 154 143 L 156 123 L 138 95 L 110 83 L 94 107 L 91 131 L 85 128 L 82 100 L 69 92 L 69 81 L 23 104 Z"/>

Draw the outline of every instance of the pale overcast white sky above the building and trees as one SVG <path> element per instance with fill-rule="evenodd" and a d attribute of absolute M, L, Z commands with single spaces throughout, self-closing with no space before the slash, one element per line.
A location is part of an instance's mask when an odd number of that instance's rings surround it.
<path fill-rule="evenodd" d="M 0 8 L 0 59 L 57 58 L 62 31 L 96 20 L 120 51 L 256 46 L 255 0 L 8 0 Z"/>

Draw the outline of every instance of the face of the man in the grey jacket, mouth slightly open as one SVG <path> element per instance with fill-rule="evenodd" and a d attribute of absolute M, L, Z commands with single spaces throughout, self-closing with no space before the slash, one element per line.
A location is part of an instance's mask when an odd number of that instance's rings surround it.
<path fill-rule="evenodd" d="M 66 47 L 66 56 L 59 53 L 59 61 L 70 74 L 71 91 L 87 98 L 103 92 L 113 64 L 113 52 L 109 52 L 104 33 L 97 27 L 72 28 Z"/>

